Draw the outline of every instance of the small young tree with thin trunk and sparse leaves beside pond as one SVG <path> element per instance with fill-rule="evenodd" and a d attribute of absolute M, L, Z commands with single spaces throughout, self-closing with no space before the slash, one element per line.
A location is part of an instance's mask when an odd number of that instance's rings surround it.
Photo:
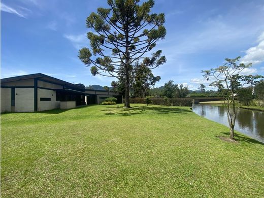
<path fill-rule="evenodd" d="M 227 96 L 225 98 L 225 106 L 227 108 L 227 120 L 230 128 L 230 140 L 235 141 L 234 127 L 236 122 L 236 105 L 235 97 L 240 87 L 245 84 L 255 84 L 257 79 L 262 78 L 259 75 L 241 75 L 241 72 L 252 66 L 251 63 L 238 63 L 241 57 L 235 59 L 225 58 L 225 63 L 215 69 L 202 71 L 203 76 L 209 80 L 214 79 L 210 86 L 217 88 L 225 87 Z"/>

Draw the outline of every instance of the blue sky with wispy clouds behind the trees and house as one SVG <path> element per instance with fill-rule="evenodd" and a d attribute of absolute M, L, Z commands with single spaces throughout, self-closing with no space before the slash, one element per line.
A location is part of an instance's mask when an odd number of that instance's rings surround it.
<path fill-rule="evenodd" d="M 92 76 L 78 51 L 89 47 L 85 19 L 106 0 L 2 0 L 1 78 L 44 73 L 72 83 L 110 86 L 109 77 Z M 156 0 L 152 12 L 165 13 L 167 63 L 153 70 L 168 80 L 196 89 L 208 85 L 201 70 L 242 56 L 253 67 L 245 74 L 264 75 L 264 1 Z"/>

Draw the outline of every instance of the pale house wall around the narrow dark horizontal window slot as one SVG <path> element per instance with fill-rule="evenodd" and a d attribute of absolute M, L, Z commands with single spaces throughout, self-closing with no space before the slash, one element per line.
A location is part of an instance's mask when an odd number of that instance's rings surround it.
<path fill-rule="evenodd" d="M 40 101 L 41 97 L 51 98 L 51 101 Z M 56 101 L 56 91 L 38 88 L 38 111 L 60 108 L 60 101 Z"/>

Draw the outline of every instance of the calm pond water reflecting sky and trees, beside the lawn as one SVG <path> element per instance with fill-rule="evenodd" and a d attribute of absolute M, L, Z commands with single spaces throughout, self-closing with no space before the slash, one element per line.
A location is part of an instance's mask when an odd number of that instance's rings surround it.
<path fill-rule="evenodd" d="M 192 109 L 193 112 L 200 116 L 228 126 L 225 107 L 194 104 Z M 236 110 L 235 130 L 264 143 L 264 112 L 242 108 L 237 108 Z"/>

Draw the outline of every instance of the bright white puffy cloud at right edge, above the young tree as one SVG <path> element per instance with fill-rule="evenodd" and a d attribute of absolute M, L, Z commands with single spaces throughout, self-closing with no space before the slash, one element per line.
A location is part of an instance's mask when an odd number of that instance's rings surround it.
<path fill-rule="evenodd" d="M 257 41 L 259 44 L 246 50 L 246 55 L 242 57 L 241 62 L 257 64 L 264 61 L 264 32 L 258 37 Z"/>

